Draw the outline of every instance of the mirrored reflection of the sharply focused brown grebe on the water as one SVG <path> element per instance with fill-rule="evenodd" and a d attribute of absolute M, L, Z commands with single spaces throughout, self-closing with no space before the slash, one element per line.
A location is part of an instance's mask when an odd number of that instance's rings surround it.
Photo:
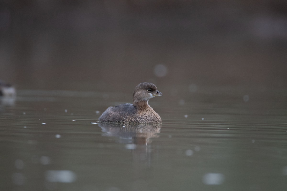
<path fill-rule="evenodd" d="M 119 138 L 120 143 L 148 145 L 150 138 L 159 137 L 161 124 L 98 123 L 102 135 Z"/>

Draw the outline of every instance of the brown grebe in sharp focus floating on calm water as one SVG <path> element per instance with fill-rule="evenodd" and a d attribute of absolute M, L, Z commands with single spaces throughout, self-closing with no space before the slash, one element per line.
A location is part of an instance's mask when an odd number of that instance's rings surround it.
<path fill-rule="evenodd" d="M 144 82 L 135 87 L 133 92 L 133 104 L 125 103 L 115 107 L 109 107 L 100 116 L 98 121 L 120 123 L 161 123 L 160 116 L 148 105 L 148 100 L 155 96 L 161 96 L 156 86 Z"/>

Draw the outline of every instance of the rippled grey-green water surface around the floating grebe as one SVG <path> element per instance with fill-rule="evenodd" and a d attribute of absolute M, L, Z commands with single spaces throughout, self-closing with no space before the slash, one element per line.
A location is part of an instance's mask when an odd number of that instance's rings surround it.
<path fill-rule="evenodd" d="M 1 99 L 0 190 L 286 190 L 286 90 L 192 90 L 149 101 L 158 126 L 97 123 L 130 92 Z"/>

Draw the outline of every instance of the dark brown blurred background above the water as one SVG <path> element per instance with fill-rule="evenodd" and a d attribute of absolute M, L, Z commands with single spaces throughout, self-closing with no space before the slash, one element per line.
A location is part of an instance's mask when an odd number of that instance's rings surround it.
<path fill-rule="evenodd" d="M 0 35 L 18 89 L 287 87 L 283 0 L 1 0 Z"/>

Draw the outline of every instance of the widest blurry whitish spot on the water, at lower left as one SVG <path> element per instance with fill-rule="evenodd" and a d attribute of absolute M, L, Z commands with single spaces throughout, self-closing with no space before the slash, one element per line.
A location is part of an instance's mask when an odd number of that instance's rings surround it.
<path fill-rule="evenodd" d="M 65 182 L 71 183 L 76 180 L 77 176 L 70 170 L 47 170 L 45 180 L 48 182 Z"/>

